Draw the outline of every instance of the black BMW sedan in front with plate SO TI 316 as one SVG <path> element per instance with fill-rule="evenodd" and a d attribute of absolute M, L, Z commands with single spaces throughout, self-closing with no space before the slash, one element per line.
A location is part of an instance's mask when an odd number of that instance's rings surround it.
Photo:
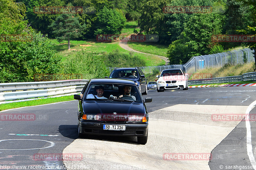
<path fill-rule="evenodd" d="M 131 80 L 90 79 L 78 101 L 78 135 L 136 136 L 148 140 L 148 112 L 138 87 Z"/>

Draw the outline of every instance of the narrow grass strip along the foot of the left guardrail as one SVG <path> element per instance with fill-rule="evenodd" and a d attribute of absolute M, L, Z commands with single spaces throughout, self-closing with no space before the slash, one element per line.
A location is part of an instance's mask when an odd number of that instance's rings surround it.
<path fill-rule="evenodd" d="M 18 107 L 37 106 L 37 105 L 56 103 L 56 102 L 60 102 L 60 101 L 69 101 L 69 100 L 75 100 L 74 95 L 55 97 L 55 98 L 47 98 L 47 99 L 38 98 L 38 100 L 0 104 L 0 111 L 12 109 L 12 108 L 18 108 Z"/>

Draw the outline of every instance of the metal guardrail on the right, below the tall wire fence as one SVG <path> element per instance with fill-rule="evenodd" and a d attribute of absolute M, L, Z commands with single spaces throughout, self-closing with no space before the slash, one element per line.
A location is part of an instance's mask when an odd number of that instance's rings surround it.
<path fill-rule="evenodd" d="M 188 85 L 202 85 L 210 83 L 227 83 L 239 81 L 253 81 L 256 80 L 256 72 L 244 73 L 241 76 L 219 77 L 219 78 L 205 78 L 188 80 Z"/>

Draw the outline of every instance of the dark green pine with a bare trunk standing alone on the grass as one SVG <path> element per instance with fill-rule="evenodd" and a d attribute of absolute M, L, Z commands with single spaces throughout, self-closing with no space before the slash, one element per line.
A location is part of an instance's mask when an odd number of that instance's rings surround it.
<path fill-rule="evenodd" d="M 70 39 L 78 38 L 86 27 L 85 24 L 81 26 L 72 14 L 61 14 L 49 28 L 52 29 L 52 33 L 57 36 L 55 38 L 59 42 L 68 40 L 68 49 L 70 49 Z"/>

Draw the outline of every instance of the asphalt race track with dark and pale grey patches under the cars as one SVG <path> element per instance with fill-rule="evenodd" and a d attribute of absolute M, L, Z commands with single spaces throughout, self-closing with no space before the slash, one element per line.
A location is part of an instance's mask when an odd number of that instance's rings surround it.
<path fill-rule="evenodd" d="M 64 169 L 58 158 L 62 152 L 72 154 L 72 160 L 64 160 L 67 169 L 253 169 L 253 156 L 249 158 L 247 151 L 248 122 L 214 121 L 212 114 L 245 114 L 256 100 L 255 91 L 254 87 L 149 90 L 143 95 L 153 98 L 146 104 L 150 112 L 146 145 L 138 145 L 135 137 L 77 139 L 77 101 L 2 111 L 0 169 Z M 250 114 L 255 112 L 253 108 Z M 15 114 L 25 121 L 15 121 Z M 250 121 L 253 155 L 255 127 Z M 212 155 L 210 161 L 173 161 L 165 160 L 167 153 Z M 45 159 L 49 154 L 56 158 Z"/>

